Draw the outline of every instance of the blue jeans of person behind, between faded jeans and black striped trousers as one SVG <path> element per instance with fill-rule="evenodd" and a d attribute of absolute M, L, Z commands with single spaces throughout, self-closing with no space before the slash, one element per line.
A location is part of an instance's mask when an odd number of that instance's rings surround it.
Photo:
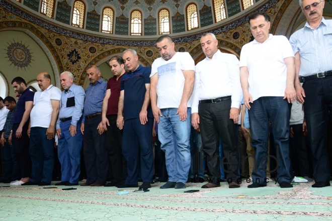
<path fill-rule="evenodd" d="M 197 170 L 197 177 L 204 178 L 205 172 L 205 153 L 203 152 L 203 144 L 201 134 L 197 132 L 193 127 L 191 127 L 191 135 L 190 135 L 190 154 L 191 154 L 191 164 L 190 164 L 190 171 L 189 177 L 195 178 L 195 150 L 198 153 L 198 170 Z"/>

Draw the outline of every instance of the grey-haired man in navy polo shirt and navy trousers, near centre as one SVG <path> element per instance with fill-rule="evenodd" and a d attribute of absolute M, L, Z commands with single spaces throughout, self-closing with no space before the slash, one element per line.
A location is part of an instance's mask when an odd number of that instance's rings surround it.
<path fill-rule="evenodd" d="M 121 79 L 117 127 L 123 130 L 122 151 L 127 161 L 128 176 L 119 188 L 137 187 L 138 162 L 143 184 L 151 187 L 153 153 L 151 148 L 153 116 L 150 105 L 150 67 L 138 64 L 136 51 L 127 49 L 122 58 L 129 70 Z M 124 126 L 125 125 L 125 126 Z M 140 157 L 140 160 L 139 160 Z"/>

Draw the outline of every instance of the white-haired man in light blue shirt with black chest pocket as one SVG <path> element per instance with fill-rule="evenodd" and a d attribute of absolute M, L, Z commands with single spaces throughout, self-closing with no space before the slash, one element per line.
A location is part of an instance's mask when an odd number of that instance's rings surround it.
<path fill-rule="evenodd" d="M 80 173 L 80 152 L 82 149 L 82 134 L 80 122 L 85 98 L 84 89 L 74 84 L 71 72 L 60 75 L 64 89 L 61 93 L 60 111 L 56 123 L 58 136 L 58 157 L 61 164 L 61 182 L 55 185 L 78 185 Z"/>

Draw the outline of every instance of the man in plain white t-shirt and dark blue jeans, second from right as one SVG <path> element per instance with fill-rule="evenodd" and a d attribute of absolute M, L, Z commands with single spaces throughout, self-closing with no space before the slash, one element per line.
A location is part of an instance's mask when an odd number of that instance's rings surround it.
<path fill-rule="evenodd" d="M 269 34 L 271 24 L 266 12 L 250 15 L 249 24 L 255 40 L 242 47 L 240 76 L 257 169 L 254 166 L 253 184 L 248 188 L 267 185 L 269 119 L 277 150 L 277 182 L 281 188 L 290 188 L 289 119 L 291 103 L 296 99 L 294 52 L 285 36 Z"/>

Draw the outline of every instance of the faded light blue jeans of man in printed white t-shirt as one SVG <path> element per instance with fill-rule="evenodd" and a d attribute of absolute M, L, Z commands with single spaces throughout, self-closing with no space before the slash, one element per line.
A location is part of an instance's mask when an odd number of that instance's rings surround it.
<path fill-rule="evenodd" d="M 169 181 L 186 183 L 190 169 L 190 128 L 191 108 L 187 109 L 187 119 L 181 121 L 178 108 L 160 109 L 158 138 L 161 150 L 165 152 Z"/>

